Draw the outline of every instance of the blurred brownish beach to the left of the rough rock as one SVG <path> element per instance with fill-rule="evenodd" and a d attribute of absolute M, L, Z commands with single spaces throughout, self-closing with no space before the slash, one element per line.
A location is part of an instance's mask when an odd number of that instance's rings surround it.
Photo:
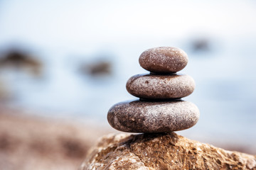
<path fill-rule="evenodd" d="M 97 138 L 111 131 L 17 112 L 0 109 L 0 169 L 78 169 Z"/>

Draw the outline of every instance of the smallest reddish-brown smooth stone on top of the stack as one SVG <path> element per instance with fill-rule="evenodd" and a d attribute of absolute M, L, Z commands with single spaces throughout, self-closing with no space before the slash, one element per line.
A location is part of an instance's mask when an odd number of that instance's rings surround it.
<path fill-rule="evenodd" d="M 188 63 L 188 55 L 176 47 L 154 47 L 142 52 L 139 64 L 149 72 L 174 73 Z"/>

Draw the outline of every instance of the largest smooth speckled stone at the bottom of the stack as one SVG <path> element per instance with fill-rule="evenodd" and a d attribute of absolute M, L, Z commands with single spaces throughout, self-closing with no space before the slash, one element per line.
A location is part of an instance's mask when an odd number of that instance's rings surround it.
<path fill-rule="evenodd" d="M 107 113 L 107 120 L 123 132 L 171 132 L 196 125 L 196 105 L 188 101 L 127 101 L 117 103 Z"/>

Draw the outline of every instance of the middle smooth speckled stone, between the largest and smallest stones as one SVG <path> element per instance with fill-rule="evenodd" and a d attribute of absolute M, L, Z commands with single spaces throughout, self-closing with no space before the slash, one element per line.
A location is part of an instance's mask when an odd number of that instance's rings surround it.
<path fill-rule="evenodd" d="M 181 74 L 137 74 L 127 81 L 126 87 L 130 94 L 139 98 L 182 98 L 192 94 L 195 81 Z"/>

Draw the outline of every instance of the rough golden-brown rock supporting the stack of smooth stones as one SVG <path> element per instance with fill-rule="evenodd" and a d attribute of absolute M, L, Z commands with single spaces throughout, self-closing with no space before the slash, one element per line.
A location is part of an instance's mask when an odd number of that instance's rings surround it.
<path fill-rule="evenodd" d="M 256 169 L 256 156 L 170 134 L 107 135 L 91 149 L 85 169 Z"/>

